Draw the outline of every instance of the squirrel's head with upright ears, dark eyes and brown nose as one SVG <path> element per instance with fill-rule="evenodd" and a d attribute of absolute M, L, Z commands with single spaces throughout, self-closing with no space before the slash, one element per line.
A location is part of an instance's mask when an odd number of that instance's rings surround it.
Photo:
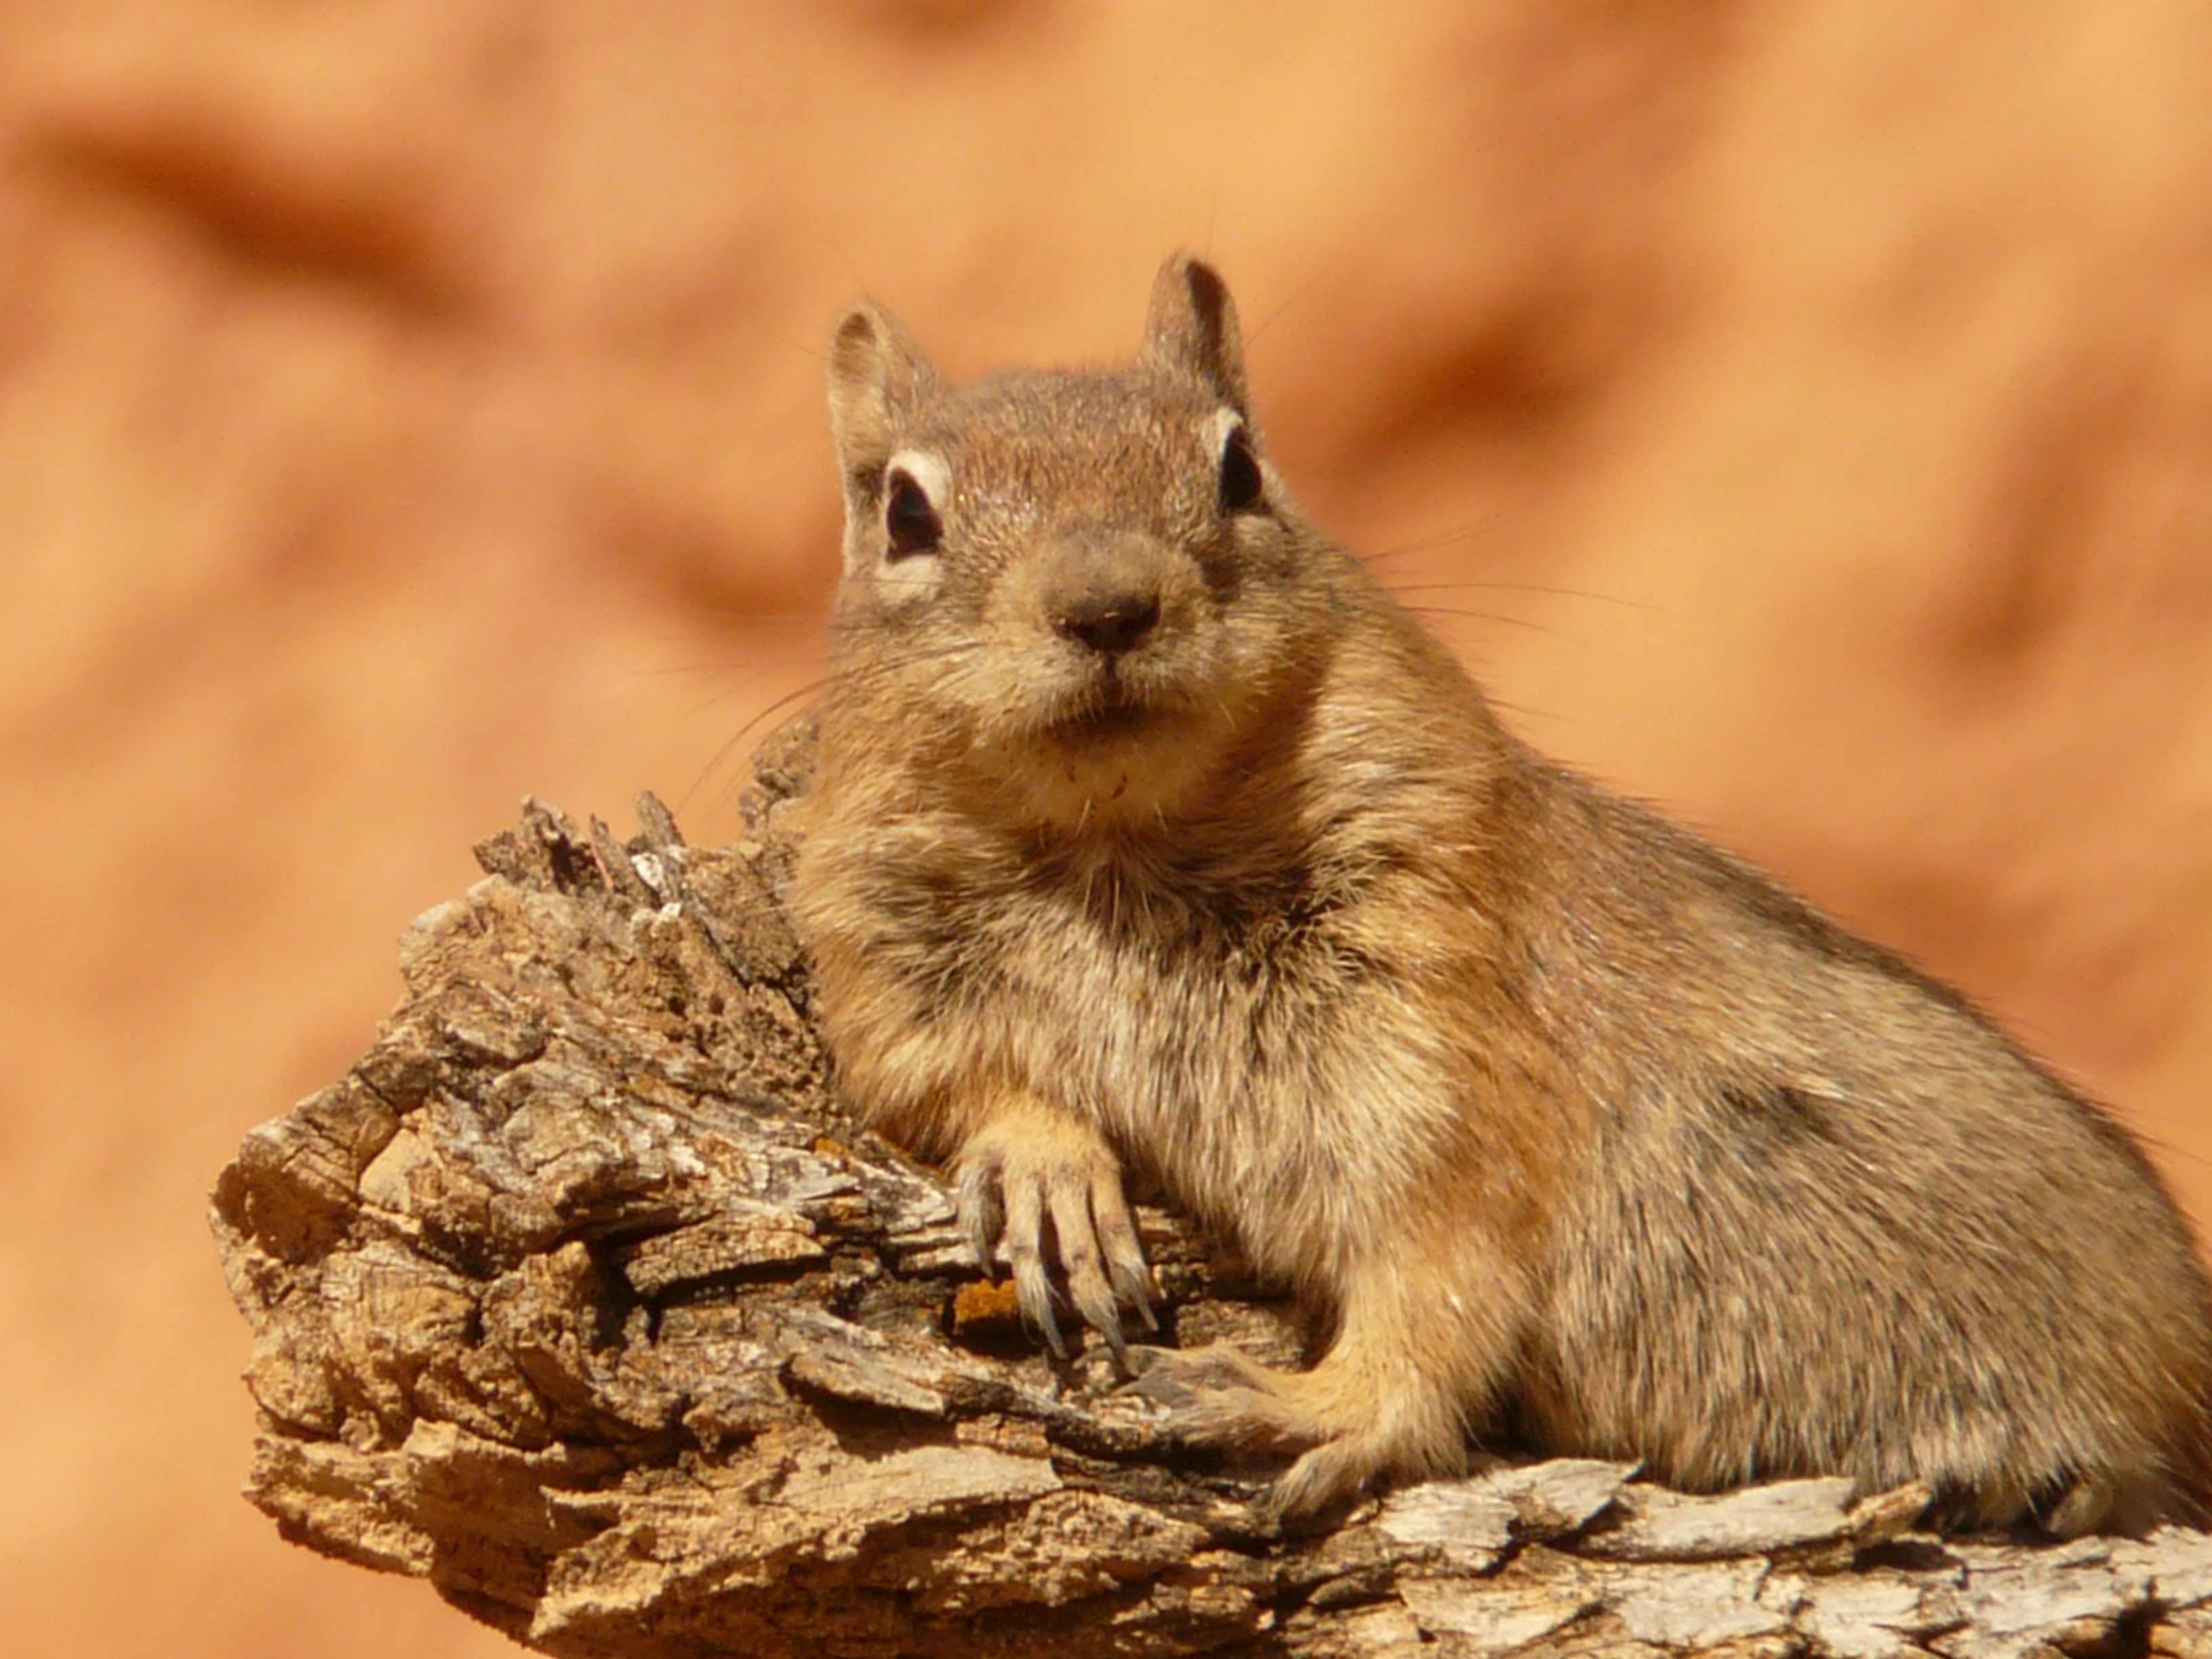
<path fill-rule="evenodd" d="M 1119 374 L 953 387 L 856 305 L 834 699 L 1037 823 L 1157 818 L 1283 688 L 1310 535 L 1252 427 L 1237 307 L 1188 254 Z"/>

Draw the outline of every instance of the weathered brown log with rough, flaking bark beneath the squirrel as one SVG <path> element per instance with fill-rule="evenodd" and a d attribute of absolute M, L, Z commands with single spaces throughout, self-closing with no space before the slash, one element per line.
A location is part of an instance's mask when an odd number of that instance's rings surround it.
<path fill-rule="evenodd" d="M 285 1537 L 555 1655 L 2212 1657 L 2212 1540 L 1936 1540 L 1920 1489 L 1500 1462 L 1285 1533 L 836 1115 L 779 911 L 807 743 L 726 849 L 529 803 L 378 1042 L 223 1170 Z M 1239 1263 L 1144 1232 L 1175 1340 L 1296 1358 Z"/>

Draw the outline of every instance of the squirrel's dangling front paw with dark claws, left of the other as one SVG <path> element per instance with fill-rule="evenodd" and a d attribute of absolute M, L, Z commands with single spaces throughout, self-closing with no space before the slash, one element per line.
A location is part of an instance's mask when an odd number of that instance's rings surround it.
<path fill-rule="evenodd" d="M 978 1263 L 989 1270 L 998 1243 L 1013 1267 L 1022 1316 L 1044 1332 L 1053 1354 L 1066 1358 L 1068 1349 L 1053 1316 L 1046 1221 L 1068 1301 L 1119 1365 L 1128 1365 L 1121 1303 L 1141 1314 L 1146 1329 L 1159 1329 L 1121 1166 L 1093 1128 L 1046 1110 L 1000 1117 L 960 1148 L 953 1183 L 960 1230 Z"/>

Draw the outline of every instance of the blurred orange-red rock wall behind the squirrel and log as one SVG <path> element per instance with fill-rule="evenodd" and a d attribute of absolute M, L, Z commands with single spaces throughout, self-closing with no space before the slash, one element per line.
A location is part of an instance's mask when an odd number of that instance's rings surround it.
<path fill-rule="evenodd" d="M 9 1652 L 504 1648 L 234 1498 L 206 1186 L 518 794 L 732 830 L 843 301 L 1113 358 L 1177 243 L 1522 730 L 2205 1214 L 2201 7 L 0 0 Z"/>

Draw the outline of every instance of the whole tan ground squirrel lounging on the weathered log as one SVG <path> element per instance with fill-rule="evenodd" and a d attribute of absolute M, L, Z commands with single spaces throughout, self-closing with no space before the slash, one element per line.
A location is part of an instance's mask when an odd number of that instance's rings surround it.
<path fill-rule="evenodd" d="M 845 573 L 792 900 L 847 1102 L 1121 1352 L 1141 1168 L 1325 1318 L 1144 1376 L 1290 1511 L 1469 1436 L 1668 1482 L 2201 1520 L 2212 1314 L 2135 1141 L 1960 995 L 1533 754 L 1292 507 L 1230 294 L 1135 363 L 830 347 Z M 1057 1267 L 1057 1283 L 1055 1283 Z"/>

